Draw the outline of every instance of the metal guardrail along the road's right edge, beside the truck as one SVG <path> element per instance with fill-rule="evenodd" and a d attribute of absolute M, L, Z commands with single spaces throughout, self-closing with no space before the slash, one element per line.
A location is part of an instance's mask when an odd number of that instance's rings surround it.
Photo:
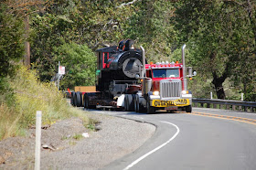
<path fill-rule="evenodd" d="M 254 101 L 228 101 L 216 99 L 192 99 L 193 106 L 226 109 L 240 112 L 256 112 L 256 102 Z"/>

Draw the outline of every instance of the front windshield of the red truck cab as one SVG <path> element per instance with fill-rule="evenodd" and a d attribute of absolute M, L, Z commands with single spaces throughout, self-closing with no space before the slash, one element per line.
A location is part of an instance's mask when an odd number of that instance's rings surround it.
<path fill-rule="evenodd" d="M 154 78 L 179 78 L 178 69 L 154 69 Z"/>

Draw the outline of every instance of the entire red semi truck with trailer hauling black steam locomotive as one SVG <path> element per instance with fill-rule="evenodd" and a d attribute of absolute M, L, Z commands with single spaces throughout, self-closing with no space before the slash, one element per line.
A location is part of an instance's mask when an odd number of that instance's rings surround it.
<path fill-rule="evenodd" d="M 192 68 L 182 63 L 147 64 L 144 48 L 133 48 L 133 41 L 101 48 L 96 52 L 96 91 L 72 92 L 71 103 L 84 108 L 114 108 L 125 111 L 154 113 L 159 110 L 192 112 L 192 93 L 187 90 L 187 77 Z M 188 73 L 188 74 L 187 74 Z"/>

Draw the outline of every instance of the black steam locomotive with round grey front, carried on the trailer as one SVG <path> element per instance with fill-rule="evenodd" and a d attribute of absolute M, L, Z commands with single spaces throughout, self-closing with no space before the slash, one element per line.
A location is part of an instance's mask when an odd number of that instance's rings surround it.
<path fill-rule="evenodd" d="M 123 94 L 131 84 L 143 62 L 142 51 L 133 47 L 133 40 L 122 40 L 118 46 L 101 48 L 97 54 L 96 90 L 112 97 Z"/>

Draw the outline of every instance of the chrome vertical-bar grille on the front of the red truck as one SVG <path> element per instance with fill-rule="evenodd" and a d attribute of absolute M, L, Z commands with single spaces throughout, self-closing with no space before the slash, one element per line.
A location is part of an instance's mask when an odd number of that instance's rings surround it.
<path fill-rule="evenodd" d="M 181 81 L 160 81 L 160 96 L 163 98 L 177 98 L 180 97 Z"/>

